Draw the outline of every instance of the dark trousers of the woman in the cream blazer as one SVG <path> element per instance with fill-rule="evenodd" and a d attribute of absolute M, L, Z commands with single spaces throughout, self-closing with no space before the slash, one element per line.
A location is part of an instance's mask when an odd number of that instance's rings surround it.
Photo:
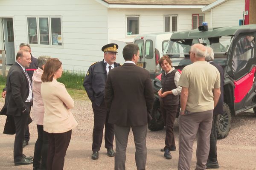
<path fill-rule="evenodd" d="M 64 133 L 47 133 L 49 140 L 47 170 L 63 170 L 71 132 L 70 130 Z"/>

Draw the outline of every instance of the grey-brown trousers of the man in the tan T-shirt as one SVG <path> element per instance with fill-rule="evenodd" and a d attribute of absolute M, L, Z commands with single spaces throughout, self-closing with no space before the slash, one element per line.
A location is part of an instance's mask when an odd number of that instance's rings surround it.
<path fill-rule="evenodd" d="M 198 134 L 196 170 L 205 170 L 209 154 L 209 137 L 213 110 L 179 116 L 178 170 L 190 170 L 193 143 Z"/>

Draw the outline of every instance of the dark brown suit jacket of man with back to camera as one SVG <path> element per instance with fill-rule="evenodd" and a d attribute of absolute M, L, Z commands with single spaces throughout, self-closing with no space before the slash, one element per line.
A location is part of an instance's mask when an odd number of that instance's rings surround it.
<path fill-rule="evenodd" d="M 109 71 L 105 87 L 109 123 L 118 126 L 146 125 L 153 103 L 154 91 L 148 71 L 132 63 Z"/>

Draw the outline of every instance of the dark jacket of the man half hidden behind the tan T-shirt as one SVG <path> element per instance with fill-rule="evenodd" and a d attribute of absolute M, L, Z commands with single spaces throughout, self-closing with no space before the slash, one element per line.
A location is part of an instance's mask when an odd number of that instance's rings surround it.
<path fill-rule="evenodd" d="M 223 102 L 224 102 L 224 89 L 223 89 L 223 85 L 224 85 L 224 72 L 223 72 L 223 68 L 216 64 L 215 62 L 209 62 L 211 65 L 214 65 L 218 71 L 220 72 L 220 76 L 221 76 L 221 96 L 219 98 L 219 101 L 217 103 L 217 105 L 215 106 L 214 110 L 213 110 L 213 115 L 218 115 L 218 114 L 222 114 L 223 113 Z"/>

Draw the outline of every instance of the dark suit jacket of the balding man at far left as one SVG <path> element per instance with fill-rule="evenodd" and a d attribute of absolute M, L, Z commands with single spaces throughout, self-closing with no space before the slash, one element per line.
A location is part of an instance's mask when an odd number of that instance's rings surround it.
<path fill-rule="evenodd" d="M 29 96 L 29 80 L 20 65 L 15 62 L 9 69 L 6 82 L 6 115 L 20 116 Z"/>

